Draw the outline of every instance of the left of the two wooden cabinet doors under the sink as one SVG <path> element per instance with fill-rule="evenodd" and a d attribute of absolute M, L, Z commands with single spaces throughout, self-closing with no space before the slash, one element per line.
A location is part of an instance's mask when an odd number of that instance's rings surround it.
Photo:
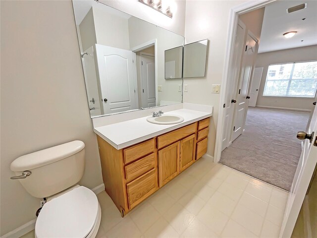
<path fill-rule="evenodd" d="M 177 141 L 159 150 L 159 187 L 179 174 L 179 146 Z"/>

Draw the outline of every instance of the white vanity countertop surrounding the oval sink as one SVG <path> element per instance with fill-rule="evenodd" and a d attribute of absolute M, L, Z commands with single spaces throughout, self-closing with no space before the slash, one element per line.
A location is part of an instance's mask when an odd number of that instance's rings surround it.
<path fill-rule="evenodd" d="M 179 109 L 164 113 L 182 116 L 183 122 L 177 124 L 154 124 L 147 121 L 147 117 L 126 120 L 118 123 L 95 127 L 94 132 L 106 140 L 117 150 L 151 139 L 168 131 L 183 127 L 195 121 L 212 116 L 210 112 L 202 112 L 189 109 Z"/>

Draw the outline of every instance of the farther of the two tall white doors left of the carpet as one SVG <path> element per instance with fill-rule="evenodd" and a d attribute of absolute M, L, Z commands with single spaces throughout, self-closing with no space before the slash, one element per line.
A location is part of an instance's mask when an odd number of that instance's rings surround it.
<path fill-rule="evenodd" d="M 233 133 L 231 141 L 234 141 L 242 134 L 247 116 L 249 100 L 247 99 L 248 90 L 250 90 L 249 82 L 252 77 L 255 56 L 258 51 L 258 42 L 248 33 L 245 51 L 243 53 L 242 70 L 240 72 L 238 88 L 236 92 L 236 103 L 234 105 L 233 116 Z"/>

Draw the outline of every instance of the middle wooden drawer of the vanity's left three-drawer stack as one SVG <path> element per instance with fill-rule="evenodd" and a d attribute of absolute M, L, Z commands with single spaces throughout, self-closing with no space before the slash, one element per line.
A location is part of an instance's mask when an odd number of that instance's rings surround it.
<path fill-rule="evenodd" d="M 155 169 L 157 165 L 157 153 L 152 153 L 124 167 L 127 182 Z"/>

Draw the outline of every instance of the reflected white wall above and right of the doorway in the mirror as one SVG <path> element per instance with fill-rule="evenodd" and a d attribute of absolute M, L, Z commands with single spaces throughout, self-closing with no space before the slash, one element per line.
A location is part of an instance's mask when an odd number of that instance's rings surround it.
<path fill-rule="evenodd" d="M 153 24 L 149 24 L 136 17 L 129 19 L 130 48 L 134 48 L 148 41 L 157 39 L 157 77 L 158 85 L 162 85 L 162 92 L 158 92 L 158 99 L 164 101 L 181 102 L 182 92 L 178 92 L 178 85 L 182 79 L 167 79 L 164 76 L 164 51 L 182 46 L 184 38 L 173 32 L 166 31 Z"/>

